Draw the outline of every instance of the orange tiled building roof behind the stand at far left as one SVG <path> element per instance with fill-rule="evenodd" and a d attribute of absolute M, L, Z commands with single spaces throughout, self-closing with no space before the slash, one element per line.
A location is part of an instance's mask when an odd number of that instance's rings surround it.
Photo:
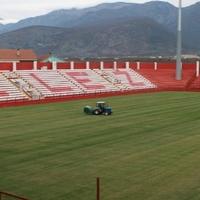
<path fill-rule="evenodd" d="M 0 49 L 0 61 L 34 61 L 37 55 L 32 49 Z"/>

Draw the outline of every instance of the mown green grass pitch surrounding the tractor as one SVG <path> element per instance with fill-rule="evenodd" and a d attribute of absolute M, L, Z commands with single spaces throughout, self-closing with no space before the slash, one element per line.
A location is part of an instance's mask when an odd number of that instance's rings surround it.
<path fill-rule="evenodd" d="M 200 93 L 0 109 L 0 190 L 31 200 L 200 199 Z M 101 99 L 102 100 L 102 99 Z M 104 100 L 104 99 L 103 99 Z"/>

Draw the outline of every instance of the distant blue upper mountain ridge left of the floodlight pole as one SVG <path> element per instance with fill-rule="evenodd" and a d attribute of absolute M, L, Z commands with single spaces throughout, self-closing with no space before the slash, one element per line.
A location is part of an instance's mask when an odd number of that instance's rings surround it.
<path fill-rule="evenodd" d="M 46 15 L 23 19 L 7 24 L 0 32 L 12 31 L 29 26 L 86 27 L 116 22 L 119 19 L 148 17 L 163 25 L 172 26 L 176 18 L 176 8 L 166 2 L 153 1 L 145 4 L 104 3 L 84 9 L 61 9 Z"/>

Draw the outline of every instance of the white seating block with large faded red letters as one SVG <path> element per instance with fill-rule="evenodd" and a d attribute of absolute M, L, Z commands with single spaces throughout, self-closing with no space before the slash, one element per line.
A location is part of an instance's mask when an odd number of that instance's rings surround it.
<path fill-rule="evenodd" d="M 132 69 L 23 70 L 1 74 L 0 97 L 46 98 L 87 93 L 155 88 Z M 31 94 L 34 93 L 32 96 Z M 36 95 L 36 96 L 37 96 Z"/>

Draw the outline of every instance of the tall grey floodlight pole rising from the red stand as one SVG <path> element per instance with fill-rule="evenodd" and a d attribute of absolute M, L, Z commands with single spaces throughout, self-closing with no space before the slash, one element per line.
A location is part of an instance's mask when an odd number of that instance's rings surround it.
<path fill-rule="evenodd" d="M 176 55 L 176 80 L 182 79 L 182 0 L 179 0 L 178 25 L 177 25 L 177 55 Z"/>

